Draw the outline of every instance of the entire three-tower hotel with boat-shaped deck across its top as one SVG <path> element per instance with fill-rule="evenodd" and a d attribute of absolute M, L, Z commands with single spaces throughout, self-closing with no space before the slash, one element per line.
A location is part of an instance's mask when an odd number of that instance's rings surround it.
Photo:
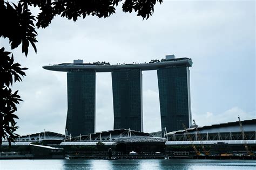
<path fill-rule="evenodd" d="M 68 115 L 66 130 L 71 136 L 95 133 L 96 73 L 111 72 L 114 127 L 143 131 L 142 71 L 157 70 L 161 128 L 167 132 L 191 125 L 190 70 L 191 59 L 166 55 L 149 63 L 110 65 L 106 62 L 73 63 L 43 66 L 44 69 L 67 72 Z"/>

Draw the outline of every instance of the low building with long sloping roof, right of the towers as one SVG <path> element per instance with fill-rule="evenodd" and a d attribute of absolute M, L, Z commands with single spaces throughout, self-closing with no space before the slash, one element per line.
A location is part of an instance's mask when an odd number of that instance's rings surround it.
<path fill-rule="evenodd" d="M 187 128 L 187 132 L 184 129 L 169 132 L 165 136 L 168 139 L 165 145 L 171 151 L 172 146 L 202 146 L 203 144 L 208 149 L 211 148 L 211 154 L 233 153 L 235 155 L 245 154 L 245 144 L 247 144 L 249 151 L 255 151 L 256 119 L 241 121 L 241 123 L 244 132 L 241 132 L 239 122 L 198 126 L 198 130 L 196 127 Z M 186 147 L 180 148 L 184 150 Z"/>

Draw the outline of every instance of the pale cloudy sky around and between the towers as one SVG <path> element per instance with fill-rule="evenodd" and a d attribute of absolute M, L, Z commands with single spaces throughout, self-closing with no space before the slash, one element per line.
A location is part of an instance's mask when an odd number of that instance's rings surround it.
<path fill-rule="evenodd" d="M 36 12 L 33 9 L 33 12 Z M 37 54 L 13 50 L 15 61 L 28 67 L 15 83 L 24 102 L 18 105 L 18 134 L 64 133 L 67 113 L 66 73 L 42 66 L 106 61 L 144 63 L 174 54 L 191 58 L 192 118 L 199 126 L 256 118 L 255 1 L 164 1 L 143 20 L 121 6 L 109 18 L 77 22 L 56 17 L 39 29 Z M 0 46 L 10 51 L 8 39 Z M 113 129 L 111 73 L 97 73 L 96 132 Z M 143 72 L 144 132 L 160 131 L 156 70 Z"/>

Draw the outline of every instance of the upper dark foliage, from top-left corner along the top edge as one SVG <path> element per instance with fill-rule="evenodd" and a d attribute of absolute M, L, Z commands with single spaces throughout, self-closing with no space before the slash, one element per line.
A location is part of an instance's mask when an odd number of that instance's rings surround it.
<path fill-rule="evenodd" d="M 21 0 L 17 4 L 0 1 L 0 37 L 9 38 L 11 49 L 22 44 L 22 53 L 28 55 L 31 44 L 37 52 L 37 28 L 48 27 L 52 19 L 60 15 L 76 21 L 78 17 L 97 16 L 106 18 L 116 13 L 116 6 L 123 2 L 124 12 L 137 12 L 137 16 L 148 19 L 154 12 L 154 5 L 163 0 Z M 41 12 L 35 17 L 28 6 L 38 7 Z M 7 17 L 6 17 L 7 16 Z M 36 20 L 37 19 L 37 20 Z"/>

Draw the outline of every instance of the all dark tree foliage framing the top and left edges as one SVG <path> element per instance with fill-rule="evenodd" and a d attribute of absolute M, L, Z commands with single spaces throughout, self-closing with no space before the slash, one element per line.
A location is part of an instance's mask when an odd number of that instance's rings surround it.
<path fill-rule="evenodd" d="M 22 46 L 22 53 L 28 55 L 31 45 L 37 52 L 37 29 L 48 27 L 55 16 L 72 19 L 78 17 L 96 16 L 106 18 L 116 11 L 116 6 L 122 3 L 123 12 L 137 12 L 137 16 L 148 19 L 154 12 L 154 5 L 163 0 L 20 0 L 9 3 L 0 0 L 0 38 L 9 39 L 11 49 Z M 38 8 L 39 13 L 33 16 L 29 8 Z M 11 90 L 13 82 L 22 81 L 25 76 L 19 63 L 14 63 L 14 56 L 0 47 L 0 145 L 2 139 L 14 140 L 14 132 L 18 128 L 14 114 L 17 111 L 21 97 Z"/>

